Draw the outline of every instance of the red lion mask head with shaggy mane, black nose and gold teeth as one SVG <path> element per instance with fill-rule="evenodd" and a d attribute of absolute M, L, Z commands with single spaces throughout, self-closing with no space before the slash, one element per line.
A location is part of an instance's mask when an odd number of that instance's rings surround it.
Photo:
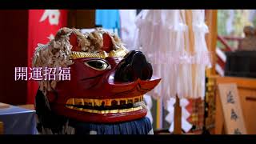
<path fill-rule="evenodd" d="M 70 67 L 70 80 L 39 81 L 46 107 L 79 122 L 127 122 L 146 116 L 143 94 L 160 78 L 138 50 L 127 50 L 115 34 L 96 29 L 82 34 L 62 28 L 38 45 L 34 67 Z"/>

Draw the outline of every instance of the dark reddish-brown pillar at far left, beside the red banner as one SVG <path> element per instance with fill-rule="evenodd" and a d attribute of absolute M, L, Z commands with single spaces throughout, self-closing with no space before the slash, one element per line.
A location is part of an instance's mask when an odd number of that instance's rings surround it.
<path fill-rule="evenodd" d="M 0 10 L 0 102 L 26 104 L 27 82 L 14 80 L 14 68 L 27 66 L 29 10 Z"/>

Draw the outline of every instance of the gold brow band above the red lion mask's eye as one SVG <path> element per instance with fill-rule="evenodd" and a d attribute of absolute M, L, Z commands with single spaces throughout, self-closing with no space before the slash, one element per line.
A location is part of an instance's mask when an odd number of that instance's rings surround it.
<path fill-rule="evenodd" d="M 110 53 L 106 53 L 106 51 L 98 52 L 98 53 L 89 53 L 89 52 L 78 52 L 72 51 L 70 54 L 71 59 L 77 58 L 107 58 L 107 57 L 124 57 L 128 53 L 125 49 L 111 50 Z"/>

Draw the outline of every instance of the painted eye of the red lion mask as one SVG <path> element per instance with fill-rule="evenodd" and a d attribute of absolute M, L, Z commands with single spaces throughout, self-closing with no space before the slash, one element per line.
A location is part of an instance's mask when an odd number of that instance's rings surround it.
<path fill-rule="evenodd" d="M 99 59 L 87 61 L 85 64 L 94 70 L 106 70 L 106 68 L 109 66 L 107 62 Z"/>

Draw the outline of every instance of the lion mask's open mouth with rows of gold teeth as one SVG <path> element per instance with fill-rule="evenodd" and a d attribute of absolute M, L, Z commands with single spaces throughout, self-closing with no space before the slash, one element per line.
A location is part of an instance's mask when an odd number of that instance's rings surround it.
<path fill-rule="evenodd" d="M 142 106 L 134 105 L 135 103 L 142 101 L 143 95 L 133 98 L 113 99 L 70 98 L 66 101 L 66 107 L 73 110 L 96 114 L 126 113 L 142 110 Z"/>

